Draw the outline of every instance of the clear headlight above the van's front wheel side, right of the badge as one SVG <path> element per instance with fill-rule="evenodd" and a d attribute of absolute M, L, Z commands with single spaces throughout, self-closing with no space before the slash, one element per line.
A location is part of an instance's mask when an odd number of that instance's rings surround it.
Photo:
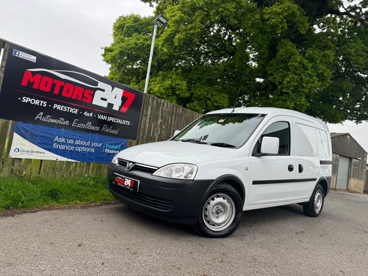
<path fill-rule="evenodd" d="M 152 175 L 176 179 L 194 179 L 198 167 L 194 164 L 170 164 L 156 170 Z"/>

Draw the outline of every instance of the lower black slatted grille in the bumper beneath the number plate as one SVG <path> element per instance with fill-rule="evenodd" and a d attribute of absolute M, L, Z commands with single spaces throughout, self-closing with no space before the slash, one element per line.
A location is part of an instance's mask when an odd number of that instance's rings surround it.
<path fill-rule="evenodd" d="M 130 199 L 132 201 L 144 204 L 149 207 L 160 209 L 160 210 L 170 210 L 171 208 L 173 208 L 172 201 L 168 201 L 162 198 L 149 197 L 139 192 L 133 192 L 125 188 L 121 188 L 119 185 L 116 185 L 112 183 L 111 181 L 108 181 L 108 182 L 109 182 L 109 188 L 124 198 Z"/>

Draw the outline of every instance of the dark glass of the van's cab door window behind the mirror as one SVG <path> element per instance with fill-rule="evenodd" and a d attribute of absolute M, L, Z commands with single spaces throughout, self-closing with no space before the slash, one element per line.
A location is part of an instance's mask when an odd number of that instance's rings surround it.
<path fill-rule="evenodd" d="M 263 137 L 276 137 L 279 138 L 279 152 L 277 154 L 289 155 L 290 154 L 290 126 L 287 122 L 276 122 L 270 125 L 265 132 Z M 262 140 L 261 140 L 262 141 Z"/>

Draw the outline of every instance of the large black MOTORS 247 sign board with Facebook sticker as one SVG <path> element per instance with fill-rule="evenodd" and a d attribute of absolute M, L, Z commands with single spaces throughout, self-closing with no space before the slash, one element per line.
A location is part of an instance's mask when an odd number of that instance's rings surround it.
<path fill-rule="evenodd" d="M 0 118 L 135 140 L 143 93 L 10 44 Z"/>

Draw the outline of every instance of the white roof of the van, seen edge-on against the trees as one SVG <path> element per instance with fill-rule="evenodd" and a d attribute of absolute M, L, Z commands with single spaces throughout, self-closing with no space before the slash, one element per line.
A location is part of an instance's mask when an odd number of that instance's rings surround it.
<path fill-rule="evenodd" d="M 232 108 L 225 108 L 220 110 L 215 110 L 208 112 L 207 114 L 216 114 L 216 113 L 231 113 L 233 111 Z M 312 116 L 309 116 L 307 114 L 297 112 L 294 110 L 289 109 L 283 109 L 283 108 L 275 108 L 275 107 L 236 107 L 235 111 L 233 113 L 254 113 L 254 114 L 270 114 L 273 116 L 293 116 L 293 117 L 299 117 L 304 120 L 312 121 L 315 123 L 317 128 L 327 129 L 328 127 L 325 124 L 325 122 L 314 118 Z"/>

